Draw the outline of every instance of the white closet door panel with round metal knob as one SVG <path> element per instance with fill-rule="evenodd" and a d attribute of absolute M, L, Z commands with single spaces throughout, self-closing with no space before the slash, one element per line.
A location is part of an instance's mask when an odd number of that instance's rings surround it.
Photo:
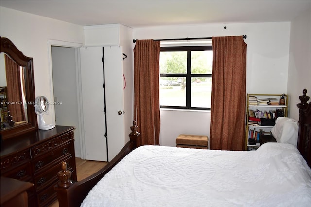
<path fill-rule="evenodd" d="M 108 161 L 125 143 L 122 47 L 104 47 Z"/>

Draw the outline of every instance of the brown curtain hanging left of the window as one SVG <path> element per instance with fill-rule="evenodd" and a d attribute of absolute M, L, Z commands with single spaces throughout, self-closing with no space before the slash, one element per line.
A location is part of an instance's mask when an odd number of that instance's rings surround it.
<path fill-rule="evenodd" d="M 160 42 L 136 40 L 134 48 L 134 120 L 141 133 L 140 145 L 159 145 Z"/>

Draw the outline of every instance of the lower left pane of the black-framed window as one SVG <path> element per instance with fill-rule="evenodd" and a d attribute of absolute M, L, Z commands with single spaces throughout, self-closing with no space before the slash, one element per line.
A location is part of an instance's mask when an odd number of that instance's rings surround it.
<path fill-rule="evenodd" d="M 160 105 L 186 106 L 185 77 L 160 77 Z"/>

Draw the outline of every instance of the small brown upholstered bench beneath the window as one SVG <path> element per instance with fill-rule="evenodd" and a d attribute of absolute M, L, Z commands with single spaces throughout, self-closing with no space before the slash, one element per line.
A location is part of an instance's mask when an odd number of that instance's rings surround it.
<path fill-rule="evenodd" d="M 208 149 L 208 137 L 203 135 L 178 135 L 176 147 Z"/>

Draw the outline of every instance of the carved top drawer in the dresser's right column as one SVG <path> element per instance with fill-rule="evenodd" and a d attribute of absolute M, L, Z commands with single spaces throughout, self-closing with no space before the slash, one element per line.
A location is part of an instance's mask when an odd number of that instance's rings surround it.
<path fill-rule="evenodd" d="M 41 155 L 45 155 L 46 153 L 56 149 L 58 146 L 66 143 L 66 142 L 73 141 L 73 138 L 74 138 L 73 132 L 70 132 L 68 134 L 64 134 L 62 136 L 53 138 L 49 141 L 46 141 L 42 144 L 39 144 L 39 145 L 32 147 L 30 149 L 31 155 L 34 158 L 41 156 Z"/>

